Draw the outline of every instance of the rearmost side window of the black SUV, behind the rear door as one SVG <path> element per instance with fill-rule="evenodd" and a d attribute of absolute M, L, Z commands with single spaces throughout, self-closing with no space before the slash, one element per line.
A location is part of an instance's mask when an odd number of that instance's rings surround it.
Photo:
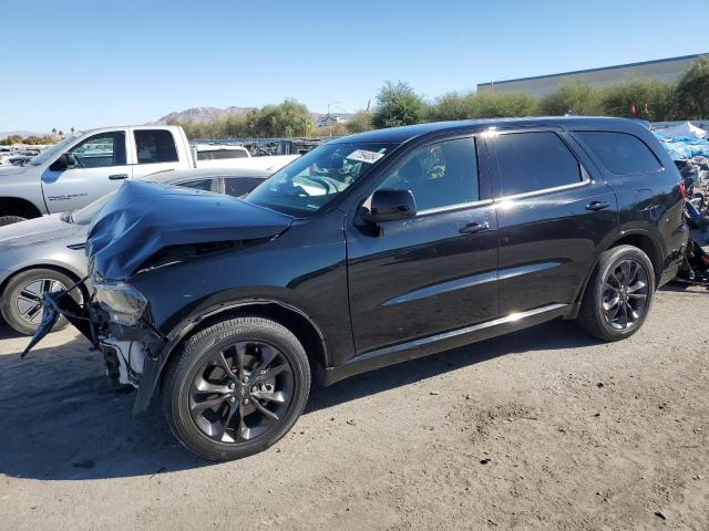
<path fill-rule="evenodd" d="M 657 171 L 661 165 L 643 140 L 625 133 L 583 131 L 574 133 L 617 175 Z"/>

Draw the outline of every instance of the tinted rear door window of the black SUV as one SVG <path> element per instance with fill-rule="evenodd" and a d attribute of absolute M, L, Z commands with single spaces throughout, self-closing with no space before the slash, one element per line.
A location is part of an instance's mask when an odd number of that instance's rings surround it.
<path fill-rule="evenodd" d="M 512 133 L 493 140 L 500 164 L 499 197 L 580 183 L 580 167 L 554 133 Z"/>

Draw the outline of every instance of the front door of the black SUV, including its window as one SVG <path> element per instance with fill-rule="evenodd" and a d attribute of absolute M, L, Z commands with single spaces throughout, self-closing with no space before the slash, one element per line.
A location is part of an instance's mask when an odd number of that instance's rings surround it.
<path fill-rule="evenodd" d="M 415 148 L 379 188 L 410 190 L 417 216 L 378 235 L 347 227 L 358 354 L 497 314 L 497 221 L 481 147 L 467 136 Z"/>

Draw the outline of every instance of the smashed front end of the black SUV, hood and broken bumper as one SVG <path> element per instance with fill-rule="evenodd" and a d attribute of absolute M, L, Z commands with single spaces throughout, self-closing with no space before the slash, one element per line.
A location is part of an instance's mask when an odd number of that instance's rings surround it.
<path fill-rule="evenodd" d="M 42 322 L 22 356 L 63 315 L 103 353 L 107 374 L 117 385 L 137 388 L 133 413 L 140 414 L 147 408 L 174 346 L 151 304 L 160 308 L 179 287 L 158 281 L 143 293 L 133 281 L 144 273 L 157 275 L 157 270 L 179 263 L 266 243 L 292 221 L 290 216 L 218 194 L 127 181 L 89 232 L 90 275 L 66 291 L 44 294 Z M 79 304 L 69 293 L 83 284 L 92 295 Z"/>

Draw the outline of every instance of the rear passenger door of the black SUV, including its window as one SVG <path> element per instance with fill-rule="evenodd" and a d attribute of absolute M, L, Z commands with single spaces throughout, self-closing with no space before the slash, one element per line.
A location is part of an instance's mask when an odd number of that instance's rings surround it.
<path fill-rule="evenodd" d="M 615 194 L 561 131 L 489 138 L 496 158 L 500 312 L 571 304 L 599 243 L 618 227 Z"/>

